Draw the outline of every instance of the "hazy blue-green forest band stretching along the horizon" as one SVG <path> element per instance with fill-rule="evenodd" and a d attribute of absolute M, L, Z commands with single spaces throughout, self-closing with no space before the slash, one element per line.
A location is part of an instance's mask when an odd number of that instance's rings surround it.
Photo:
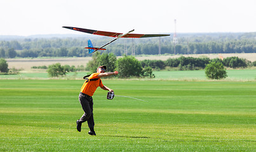
<path fill-rule="evenodd" d="M 123 39 L 107 46 L 105 53 L 123 54 L 208 54 L 208 53 L 256 53 L 256 33 L 248 34 L 195 34 L 180 35 L 174 45 L 172 37 Z M 84 49 L 86 38 L 18 39 L 0 41 L 0 58 L 37 58 L 43 56 L 91 56 Z M 109 38 L 92 39 L 94 46 L 102 46 Z M 159 47 L 160 44 L 160 47 Z M 134 53 L 133 53 L 134 54 Z"/>

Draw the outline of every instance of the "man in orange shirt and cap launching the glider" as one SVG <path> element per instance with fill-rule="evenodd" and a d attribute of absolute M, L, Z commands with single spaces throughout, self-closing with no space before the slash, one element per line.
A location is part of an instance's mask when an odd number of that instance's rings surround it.
<path fill-rule="evenodd" d="M 88 79 L 84 78 L 86 79 L 86 81 L 81 87 L 81 92 L 79 94 L 79 102 L 81 103 L 81 106 L 84 110 L 84 114 L 79 120 L 76 121 L 76 129 L 79 132 L 81 132 L 82 123 L 87 121 L 88 127 L 90 128 L 90 131 L 88 132 L 88 134 L 90 134 L 91 136 L 93 135 L 96 136 L 94 131 L 94 120 L 93 120 L 93 98 L 91 98 L 91 96 L 93 96 L 98 86 L 100 86 L 102 89 L 106 91 L 113 92 L 112 89 L 102 84 L 102 80 L 100 80 L 100 78 L 108 77 L 111 75 L 118 75 L 117 71 L 105 72 L 105 70 L 107 70 L 106 66 L 99 66 L 97 68 L 97 73 L 92 73 L 90 77 L 88 77 Z"/>

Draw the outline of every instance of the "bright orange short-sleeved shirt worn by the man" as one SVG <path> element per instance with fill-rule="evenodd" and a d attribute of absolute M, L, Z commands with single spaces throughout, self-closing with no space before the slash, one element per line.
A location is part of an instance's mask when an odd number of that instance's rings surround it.
<path fill-rule="evenodd" d="M 98 77 L 98 74 L 100 73 L 92 73 L 89 80 L 85 81 L 83 86 L 81 87 L 81 92 L 84 94 L 87 94 L 88 96 L 93 96 L 94 92 L 96 91 L 97 87 L 104 87 L 102 84 L 102 80 L 100 80 L 100 77 Z M 90 79 L 98 79 L 98 80 L 90 80 Z"/>

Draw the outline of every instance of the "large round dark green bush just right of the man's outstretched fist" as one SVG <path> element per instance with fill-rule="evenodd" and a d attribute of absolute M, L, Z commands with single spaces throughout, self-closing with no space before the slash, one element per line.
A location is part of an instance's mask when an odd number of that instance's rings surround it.
<path fill-rule="evenodd" d="M 139 77 L 142 74 L 142 65 L 134 56 L 124 56 L 116 61 L 116 68 L 120 77 Z"/>

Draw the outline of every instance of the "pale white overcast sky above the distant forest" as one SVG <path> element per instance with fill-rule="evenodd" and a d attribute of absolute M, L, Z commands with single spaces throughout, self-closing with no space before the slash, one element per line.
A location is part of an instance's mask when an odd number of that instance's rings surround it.
<path fill-rule="evenodd" d="M 0 35 L 256 32 L 256 0 L 1 0 Z"/>

